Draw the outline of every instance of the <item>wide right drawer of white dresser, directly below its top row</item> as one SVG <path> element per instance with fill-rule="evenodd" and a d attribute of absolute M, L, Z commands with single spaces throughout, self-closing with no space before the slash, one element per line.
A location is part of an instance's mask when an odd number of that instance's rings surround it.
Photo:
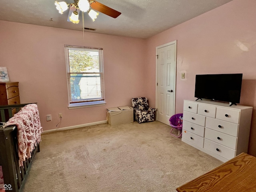
<path fill-rule="evenodd" d="M 238 124 L 206 117 L 205 127 L 237 137 Z"/>

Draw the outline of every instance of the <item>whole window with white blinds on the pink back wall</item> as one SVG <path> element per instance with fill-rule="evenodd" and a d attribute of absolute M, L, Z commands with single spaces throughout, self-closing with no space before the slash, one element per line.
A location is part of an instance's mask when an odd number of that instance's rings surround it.
<path fill-rule="evenodd" d="M 102 48 L 65 45 L 69 108 L 105 105 Z"/>

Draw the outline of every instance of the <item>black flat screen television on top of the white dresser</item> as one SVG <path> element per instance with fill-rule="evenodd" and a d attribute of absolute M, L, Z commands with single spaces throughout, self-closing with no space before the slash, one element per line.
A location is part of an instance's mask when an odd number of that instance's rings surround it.
<path fill-rule="evenodd" d="M 196 75 L 195 97 L 236 105 L 240 103 L 242 76 L 243 74 Z"/>

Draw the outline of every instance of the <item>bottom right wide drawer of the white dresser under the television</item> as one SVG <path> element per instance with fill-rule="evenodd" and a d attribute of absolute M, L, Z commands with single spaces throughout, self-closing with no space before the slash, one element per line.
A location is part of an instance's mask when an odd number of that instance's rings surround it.
<path fill-rule="evenodd" d="M 222 157 L 224 157 L 228 160 L 234 158 L 235 155 L 236 155 L 235 150 L 230 149 L 230 148 L 228 148 L 226 146 L 223 146 L 221 144 L 218 144 L 216 142 L 210 141 L 206 138 L 204 139 L 204 148 L 209 150 L 210 152 L 218 154 L 219 156 L 222 156 Z"/>

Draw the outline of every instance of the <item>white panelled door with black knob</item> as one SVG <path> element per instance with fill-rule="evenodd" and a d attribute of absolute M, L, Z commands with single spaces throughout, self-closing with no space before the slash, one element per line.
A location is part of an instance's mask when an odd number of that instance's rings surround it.
<path fill-rule="evenodd" d="M 156 108 L 157 120 L 170 125 L 175 113 L 176 41 L 156 48 Z"/>

